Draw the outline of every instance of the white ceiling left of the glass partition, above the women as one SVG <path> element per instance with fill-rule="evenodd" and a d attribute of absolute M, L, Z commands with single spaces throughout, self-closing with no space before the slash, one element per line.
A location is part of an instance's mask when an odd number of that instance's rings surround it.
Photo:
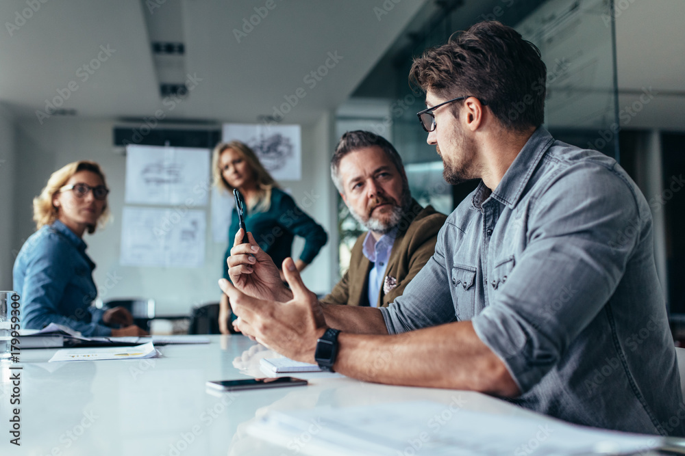
<path fill-rule="evenodd" d="M 373 8 L 382 2 L 367 0 L 47 1 L 27 12 L 12 36 L 0 30 L 0 101 L 18 116 L 35 116 L 74 81 L 78 88 L 62 108 L 79 116 L 140 118 L 162 109 L 166 118 L 256 122 L 302 88 L 285 122 L 314 122 L 349 97 L 425 0 L 386 3 L 394 6 L 379 19 Z M 3 0 L 0 22 L 14 22 L 25 8 L 25 0 Z M 173 108 L 162 103 L 145 25 L 146 14 L 164 8 L 182 12 L 185 69 L 201 79 Z M 268 14 L 238 43 L 233 30 L 254 8 Z M 101 45 L 115 51 L 83 81 L 79 68 Z M 320 81 L 304 81 L 327 60 L 333 66 L 329 53 L 341 57 L 334 68 Z"/>

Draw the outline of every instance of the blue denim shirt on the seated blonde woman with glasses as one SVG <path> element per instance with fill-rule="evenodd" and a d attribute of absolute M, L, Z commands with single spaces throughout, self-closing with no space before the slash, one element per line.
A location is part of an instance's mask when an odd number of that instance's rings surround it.
<path fill-rule="evenodd" d="M 14 260 L 14 290 L 21 295 L 21 327 L 40 330 L 59 323 L 84 336 L 110 336 L 103 310 L 90 306 L 97 296 L 86 243 L 62 222 L 42 226 Z"/>

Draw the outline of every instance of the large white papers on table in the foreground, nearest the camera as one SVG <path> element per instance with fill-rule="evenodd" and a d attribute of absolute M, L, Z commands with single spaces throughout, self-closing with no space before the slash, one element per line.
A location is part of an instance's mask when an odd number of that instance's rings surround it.
<path fill-rule="evenodd" d="M 664 442 L 656 435 L 602 431 L 543 416 L 472 412 L 454 401 L 271 410 L 247 432 L 281 445 L 307 433 L 311 439 L 300 449 L 308 455 L 623 454 Z"/>

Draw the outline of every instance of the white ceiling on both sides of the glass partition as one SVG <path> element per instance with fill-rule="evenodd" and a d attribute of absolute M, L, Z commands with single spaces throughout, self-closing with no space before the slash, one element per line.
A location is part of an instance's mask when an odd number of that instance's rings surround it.
<path fill-rule="evenodd" d="M 66 93 L 64 89 L 74 81 L 78 89 L 62 107 L 76 109 L 79 116 L 142 118 L 162 109 L 166 118 L 179 120 L 258 122 L 258 116 L 271 115 L 275 105 L 286 102 L 284 96 L 292 100 L 302 88 L 306 96 L 292 107 L 285 122 L 308 124 L 349 98 L 428 3 L 273 2 L 275 8 L 238 43 L 233 30 L 240 29 L 243 19 L 255 14 L 253 8 L 266 5 L 267 0 L 53 0 L 40 3 L 25 23 L 18 22 L 21 27 L 12 36 L 4 24 L 13 23 L 27 3 L 3 0 L 0 102 L 17 116 L 35 118 L 36 109 L 45 109 L 46 99 L 58 96 L 58 90 Z M 151 3 L 160 8 L 151 13 L 146 6 Z M 394 7 L 379 20 L 373 8 L 382 8 L 384 3 Z M 479 6 L 487 13 L 493 10 L 492 3 L 484 1 Z M 616 4 L 620 12 L 616 18 L 619 107 L 632 105 L 643 88 L 656 92 L 624 126 L 685 130 L 685 1 Z M 621 5 L 627 8 L 621 10 Z M 475 3 L 467 1 L 460 12 L 475 21 L 478 16 L 473 8 Z M 162 104 L 159 94 L 146 26 L 150 14 L 164 18 L 162 24 L 167 16 L 174 27 L 181 23 L 180 29 L 169 31 L 169 39 L 182 37 L 185 70 L 201 79 L 173 109 Z M 153 33 L 164 35 L 164 29 Z M 101 45 L 116 51 L 82 81 L 79 67 L 97 58 Z M 343 58 L 311 88 L 303 78 L 325 64 L 327 53 L 336 51 Z"/>

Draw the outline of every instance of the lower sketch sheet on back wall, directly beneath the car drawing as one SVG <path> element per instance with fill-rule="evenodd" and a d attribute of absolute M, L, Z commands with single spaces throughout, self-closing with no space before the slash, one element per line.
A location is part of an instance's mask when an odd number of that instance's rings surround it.
<path fill-rule="evenodd" d="M 202 267 L 205 211 L 125 207 L 121 217 L 122 266 Z"/>

